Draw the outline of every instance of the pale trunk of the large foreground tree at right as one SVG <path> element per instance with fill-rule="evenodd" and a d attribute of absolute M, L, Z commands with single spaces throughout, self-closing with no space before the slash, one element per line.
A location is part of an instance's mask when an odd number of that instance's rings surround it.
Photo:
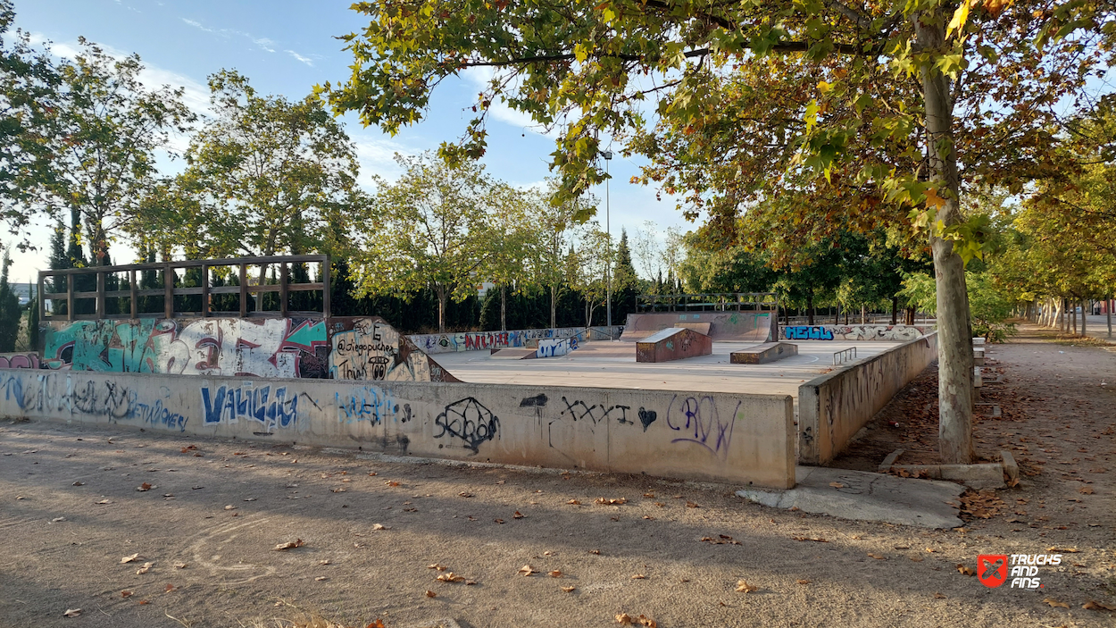
<path fill-rule="evenodd" d="M 947 15 L 942 10 L 915 16 L 914 30 L 920 50 L 940 50 L 944 46 Z M 925 21 L 923 21 L 925 19 Z M 961 221 L 958 155 L 953 143 L 953 103 L 950 80 L 927 63 L 921 68 L 926 110 L 926 152 L 930 181 L 944 198 L 937 220 L 945 226 Z M 965 268 L 953 242 L 935 235 L 930 246 L 934 254 L 934 279 L 937 286 L 937 439 L 942 462 L 968 464 L 973 460 L 973 351 L 969 322 L 969 293 Z"/>

